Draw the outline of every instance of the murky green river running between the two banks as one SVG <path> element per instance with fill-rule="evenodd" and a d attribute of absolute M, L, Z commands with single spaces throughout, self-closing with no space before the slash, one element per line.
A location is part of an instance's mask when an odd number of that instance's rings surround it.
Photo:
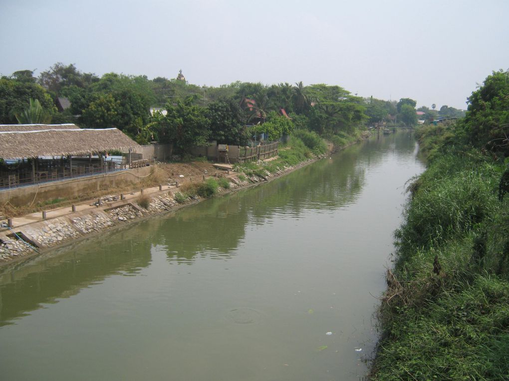
<path fill-rule="evenodd" d="M 411 133 L 0 269 L 5 380 L 359 380 Z"/>

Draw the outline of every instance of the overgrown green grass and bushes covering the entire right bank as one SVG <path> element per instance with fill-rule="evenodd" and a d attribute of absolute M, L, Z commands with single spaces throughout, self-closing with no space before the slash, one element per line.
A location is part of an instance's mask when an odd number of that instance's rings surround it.
<path fill-rule="evenodd" d="M 509 379 L 509 72 L 494 72 L 454 124 L 418 131 L 378 313 L 374 380 Z"/>

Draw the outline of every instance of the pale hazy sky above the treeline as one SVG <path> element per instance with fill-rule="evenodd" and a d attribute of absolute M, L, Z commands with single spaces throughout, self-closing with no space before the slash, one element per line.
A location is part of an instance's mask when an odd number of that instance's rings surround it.
<path fill-rule="evenodd" d="M 509 69 L 507 0 L 0 0 L 0 74 L 82 72 L 334 84 L 466 108 Z"/>

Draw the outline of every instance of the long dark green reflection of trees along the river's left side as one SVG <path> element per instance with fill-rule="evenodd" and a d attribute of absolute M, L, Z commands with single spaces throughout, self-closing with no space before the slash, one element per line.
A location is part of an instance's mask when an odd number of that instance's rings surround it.
<path fill-rule="evenodd" d="M 229 260 L 249 227 L 270 225 L 275 218 L 299 219 L 308 212 L 332 213 L 355 203 L 366 171 L 382 168 L 387 152 L 409 160 L 414 147 L 408 133 L 370 139 L 268 184 L 0 269 L 0 326 L 106 277 L 136 275 L 149 266 L 154 253 L 187 265 L 203 257 Z M 264 237 L 256 242 L 263 246 Z"/>

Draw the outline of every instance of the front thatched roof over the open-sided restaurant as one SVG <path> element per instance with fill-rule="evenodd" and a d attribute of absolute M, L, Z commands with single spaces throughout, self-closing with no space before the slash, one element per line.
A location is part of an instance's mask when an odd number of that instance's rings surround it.
<path fill-rule="evenodd" d="M 127 151 L 138 146 L 118 129 L 75 128 L 0 132 L 0 157 L 4 159 L 81 156 L 111 150 Z"/>

